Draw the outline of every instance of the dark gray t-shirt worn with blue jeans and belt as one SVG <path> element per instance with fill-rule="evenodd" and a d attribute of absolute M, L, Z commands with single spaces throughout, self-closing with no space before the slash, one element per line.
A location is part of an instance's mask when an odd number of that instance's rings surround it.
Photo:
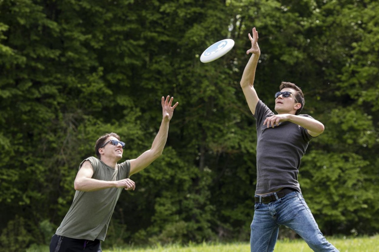
<path fill-rule="evenodd" d="M 264 194 L 280 188 L 300 190 L 298 173 L 300 160 L 312 136 L 298 124 L 285 121 L 267 128 L 263 122 L 274 113 L 258 101 L 254 117 L 257 119 L 257 188 Z M 310 117 L 309 115 L 300 115 Z"/>

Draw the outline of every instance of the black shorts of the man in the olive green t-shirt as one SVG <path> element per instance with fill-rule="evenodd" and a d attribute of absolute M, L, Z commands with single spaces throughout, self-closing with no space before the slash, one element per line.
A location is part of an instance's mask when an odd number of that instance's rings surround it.
<path fill-rule="evenodd" d="M 50 241 L 50 252 L 102 252 L 100 240 L 88 241 L 66 236 L 53 235 Z"/>

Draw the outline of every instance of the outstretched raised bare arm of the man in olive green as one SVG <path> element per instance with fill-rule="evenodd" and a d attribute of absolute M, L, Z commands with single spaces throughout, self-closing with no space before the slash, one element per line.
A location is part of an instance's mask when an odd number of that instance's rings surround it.
<path fill-rule="evenodd" d="M 161 156 L 164 145 L 166 145 L 170 120 L 174 113 L 175 107 L 179 104 L 175 103 L 175 105 L 171 107 L 174 97 L 171 97 L 170 101 L 169 98 L 170 96 L 167 96 L 166 100 L 164 100 L 164 97 L 162 97 L 163 119 L 158 134 L 155 136 L 151 148 L 142 153 L 136 159 L 130 160 L 130 175 L 143 170 L 155 159 Z"/>

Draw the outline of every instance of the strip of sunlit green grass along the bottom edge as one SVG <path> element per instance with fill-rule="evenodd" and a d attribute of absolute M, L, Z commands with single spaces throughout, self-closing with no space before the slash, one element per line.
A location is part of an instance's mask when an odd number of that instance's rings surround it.
<path fill-rule="evenodd" d="M 379 235 L 359 238 L 328 238 L 340 252 L 379 252 Z M 47 252 L 48 246 L 27 249 L 27 252 Z M 189 246 L 154 246 L 144 249 L 123 247 L 103 249 L 103 252 L 249 252 L 249 243 L 197 244 Z M 303 240 L 277 241 L 274 252 L 312 252 Z"/>

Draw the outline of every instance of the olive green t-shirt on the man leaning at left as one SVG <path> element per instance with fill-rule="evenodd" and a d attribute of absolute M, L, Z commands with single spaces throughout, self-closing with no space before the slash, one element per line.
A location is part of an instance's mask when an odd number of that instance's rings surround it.
<path fill-rule="evenodd" d="M 129 177 L 130 161 L 117 164 L 116 169 L 96 157 L 88 157 L 94 170 L 92 179 L 116 181 Z M 106 188 L 98 191 L 76 191 L 74 201 L 56 230 L 56 235 L 84 240 L 104 241 L 114 207 L 124 188 Z"/>

